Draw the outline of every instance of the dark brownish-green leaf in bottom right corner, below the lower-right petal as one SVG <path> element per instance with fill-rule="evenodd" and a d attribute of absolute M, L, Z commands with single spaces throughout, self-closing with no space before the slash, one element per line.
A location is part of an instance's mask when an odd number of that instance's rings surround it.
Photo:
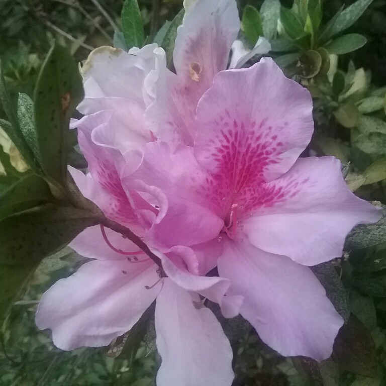
<path fill-rule="evenodd" d="M 341 369 L 363 376 L 376 375 L 375 345 L 371 334 L 353 315 L 338 332 L 333 358 Z"/>

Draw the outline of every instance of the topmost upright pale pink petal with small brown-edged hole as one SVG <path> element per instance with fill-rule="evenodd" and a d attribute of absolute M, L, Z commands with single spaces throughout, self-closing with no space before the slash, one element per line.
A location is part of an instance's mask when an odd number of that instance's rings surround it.
<path fill-rule="evenodd" d="M 177 29 L 173 63 L 178 82 L 173 100 L 190 135 L 196 107 L 214 76 L 225 70 L 232 43 L 240 28 L 234 0 L 190 0 Z"/>

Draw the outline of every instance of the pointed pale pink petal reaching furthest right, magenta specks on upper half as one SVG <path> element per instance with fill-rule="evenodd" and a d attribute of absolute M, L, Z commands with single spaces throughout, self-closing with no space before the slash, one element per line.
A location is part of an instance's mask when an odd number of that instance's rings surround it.
<path fill-rule="evenodd" d="M 305 265 L 340 257 L 348 232 L 381 216 L 347 188 L 334 157 L 299 158 L 283 176 L 262 184 L 257 196 L 243 232 L 257 248 Z"/>

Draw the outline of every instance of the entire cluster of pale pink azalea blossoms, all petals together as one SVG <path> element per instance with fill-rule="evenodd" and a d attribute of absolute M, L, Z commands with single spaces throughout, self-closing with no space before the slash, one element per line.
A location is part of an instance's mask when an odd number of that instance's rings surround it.
<path fill-rule="evenodd" d="M 230 386 L 232 349 L 205 299 L 282 355 L 323 360 L 343 320 L 309 266 L 340 257 L 352 227 L 380 213 L 348 190 L 338 160 L 299 158 L 313 133 L 306 89 L 270 58 L 226 70 L 234 0 L 185 3 L 176 73 L 154 44 L 97 49 L 73 123 L 89 170 L 70 168 L 79 189 L 162 270 L 88 228 L 71 246 L 93 260 L 43 295 L 36 321 L 60 348 L 104 346 L 155 301 L 157 385 Z"/>

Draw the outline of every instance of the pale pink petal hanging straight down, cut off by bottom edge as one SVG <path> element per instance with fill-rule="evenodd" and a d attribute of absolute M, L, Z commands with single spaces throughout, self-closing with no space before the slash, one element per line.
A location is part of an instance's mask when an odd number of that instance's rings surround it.
<path fill-rule="evenodd" d="M 195 303 L 193 303 L 195 302 Z M 200 307 L 170 279 L 163 279 L 155 307 L 158 386 L 231 386 L 232 348 L 212 311 Z"/>

